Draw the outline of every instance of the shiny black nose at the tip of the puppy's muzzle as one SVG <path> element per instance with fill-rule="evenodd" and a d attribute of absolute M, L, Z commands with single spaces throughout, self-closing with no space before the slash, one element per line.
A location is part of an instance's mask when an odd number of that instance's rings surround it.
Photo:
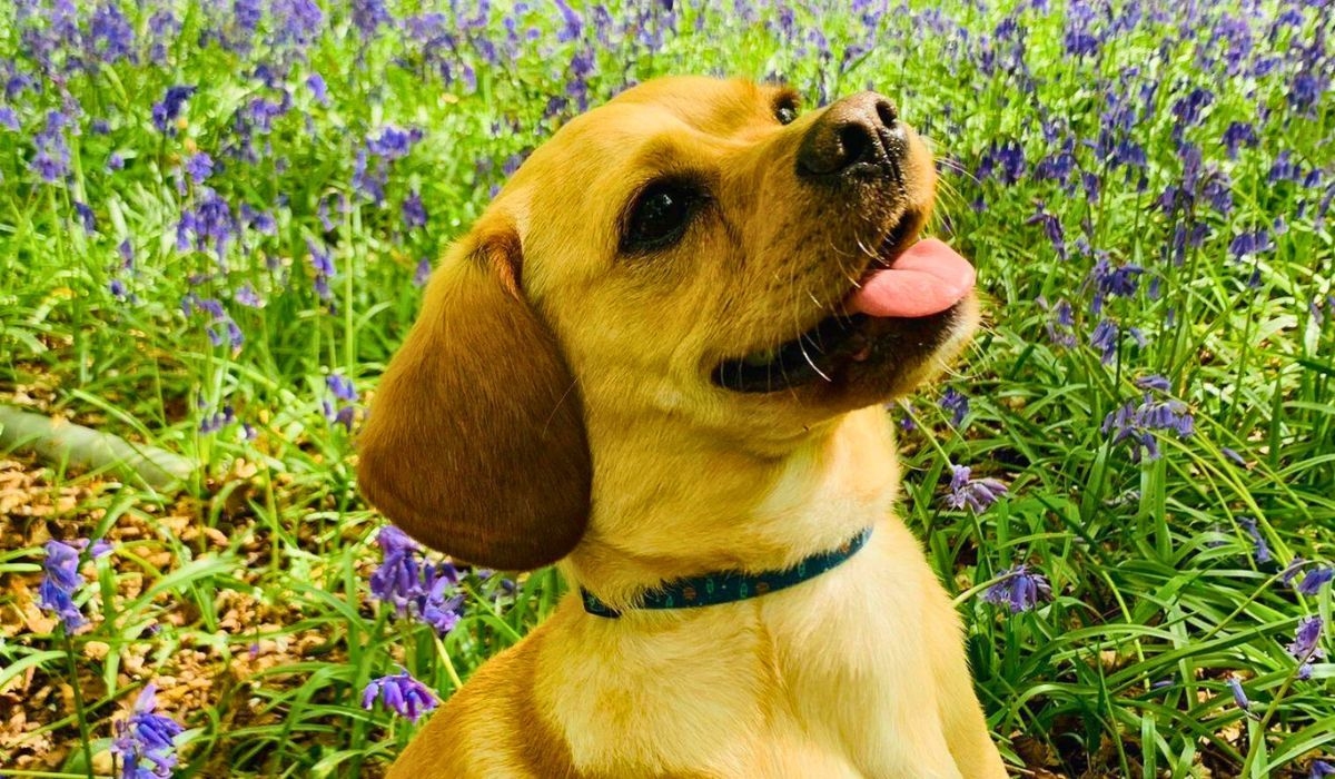
<path fill-rule="evenodd" d="M 824 182 L 896 176 L 906 154 L 894 103 L 858 92 L 834 103 L 806 131 L 797 175 Z"/>

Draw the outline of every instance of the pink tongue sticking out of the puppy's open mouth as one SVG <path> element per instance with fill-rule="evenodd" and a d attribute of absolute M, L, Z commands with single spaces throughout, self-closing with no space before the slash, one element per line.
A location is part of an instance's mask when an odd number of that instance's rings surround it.
<path fill-rule="evenodd" d="M 949 309 L 972 289 L 969 261 L 936 238 L 924 238 L 896 258 L 893 267 L 862 279 L 848 310 L 870 317 L 926 317 Z"/>

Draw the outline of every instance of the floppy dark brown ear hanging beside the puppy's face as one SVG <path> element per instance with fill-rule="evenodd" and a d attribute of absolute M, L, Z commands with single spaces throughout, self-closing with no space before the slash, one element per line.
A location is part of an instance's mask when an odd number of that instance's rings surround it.
<path fill-rule="evenodd" d="M 501 569 L 565 557 L 593 482 L 579 396 L 521 262 L 509 223 L 451 250 L 358 444 L 372 505 L 423 544 Z"/>

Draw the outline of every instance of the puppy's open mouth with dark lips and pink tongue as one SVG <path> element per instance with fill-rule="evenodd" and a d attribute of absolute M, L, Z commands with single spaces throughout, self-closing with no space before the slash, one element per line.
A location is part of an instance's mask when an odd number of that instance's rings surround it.
<path fill-rule="evenodd" d="M 772 393 L 817 381 L 834 382 L 849 366 L 893 357 L 898 341 L 912 354 L 949 323 L 973 289 L 973 266 L 945 243 L 918 241 L 922 218 L 904 215 L 881 241 L 877 258 L 838 306 L 792 341 L 718 363 L 712 379 L 738 393 Z"/>

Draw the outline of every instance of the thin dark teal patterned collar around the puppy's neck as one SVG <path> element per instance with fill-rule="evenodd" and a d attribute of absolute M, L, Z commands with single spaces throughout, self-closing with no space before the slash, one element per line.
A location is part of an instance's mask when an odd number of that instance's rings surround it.
<path fill-rule="evenodd" d="M 841 563 L 857 555 L 857 551 L 866 544 L 872 536 L 872 528 L 865 528 L 858 534 L 838 547 L 826 552 L 812 555 L 792 568 L 778 571 L 762 571 L 760 573 L 742 573 L 740 571 L 720 571 L 704 576 L 678 579 L 651 589 L 635 603 L 635 608 L 668 609 L 668 608 L 700 608 L 704 605 L 718 605 L 721 603 L 734 603 L 760 597 L 780 589 L 788 589 L 794 584 L 801 584 L 809 579 L 816 579 L 821 573 L 838 567 Z M 579 591 L 585 611 L 607 619 L 617 619 L 621 612 L 598 600 L 587 589 Z"/>

